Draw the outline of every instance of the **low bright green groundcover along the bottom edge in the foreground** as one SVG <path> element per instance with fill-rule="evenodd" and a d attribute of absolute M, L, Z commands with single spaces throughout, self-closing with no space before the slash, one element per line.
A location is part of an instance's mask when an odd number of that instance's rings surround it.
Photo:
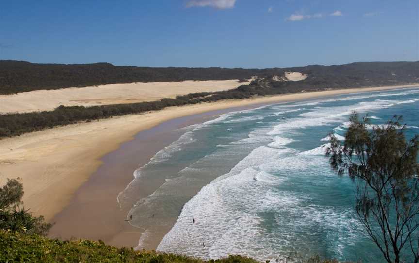
<path fill-rule="evenodd" d="M 117 248 L 101 241 L 52 240 L 39 235 L 7 233 L 0 230 L 0 262 L 74 262 L 74 263 L 258 263 L 242 257 L 204 261 L 187 256 L 134 251 L 132 248 Z M 297 263 L 302 261 L 297 261 Z M 338 263 L 336 260 L 320 260 L 314 257 L 305 263 Z"/>

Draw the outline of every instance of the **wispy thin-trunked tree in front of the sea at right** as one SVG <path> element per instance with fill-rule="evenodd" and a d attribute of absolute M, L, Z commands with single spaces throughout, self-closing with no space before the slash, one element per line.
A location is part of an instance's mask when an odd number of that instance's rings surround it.
<path fill-rule="evenodd" d="M 331 135 L 326 155 L 356 185 L 355 210 L 388 263 L 419 262 L 419 135 L 404 136 L 401 117 L 368 129 L 354 113 L 343 145 Z"/>

